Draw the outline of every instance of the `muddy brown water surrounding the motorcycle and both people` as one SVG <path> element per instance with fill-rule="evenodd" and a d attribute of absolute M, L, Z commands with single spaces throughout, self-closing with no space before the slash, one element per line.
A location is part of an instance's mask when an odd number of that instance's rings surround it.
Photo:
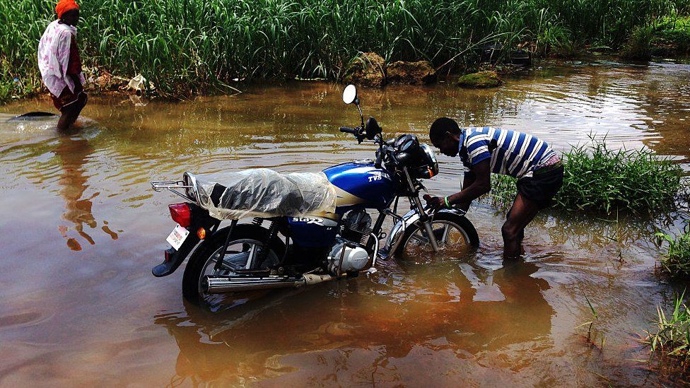
<path fill-rule="evenodd" d="M 640 342 L 675 290 L 651 235 L 670 221 L 549 211 L 504 264 L 505 213 L 476 203 L 469 257 L 382 261 L 378 272 L 300 290 L 182 300 L 182 269 L 153 278 L 173 223 L 151 180 L 250 167 L 313 171 L 372 158 L 338 131 L 358 122 L 339 85 L 255 86 L 190 102 L 91 98 L 60 136 L 48 100 L 0 107 L 0 385 L 607 386 L 669 384 Z M 497 90 L 360 90 L 385 134 L 426 137 L 435 117 L 520 129 L 563 150 L 612 146 L 690 157 L 690 66 L 544 66 Z M 428 182 L 450 193 L 457 160 Z M 684 167 L 686 165 L 684 164 Z M 587 299 L 595 307 L 592 317 Z M 594 320 L 587 340 L 585 322 Z M 603 345 L 603 346 L 602 346 Z M 672 383 L 671 383 L 672 384 Z"/>

